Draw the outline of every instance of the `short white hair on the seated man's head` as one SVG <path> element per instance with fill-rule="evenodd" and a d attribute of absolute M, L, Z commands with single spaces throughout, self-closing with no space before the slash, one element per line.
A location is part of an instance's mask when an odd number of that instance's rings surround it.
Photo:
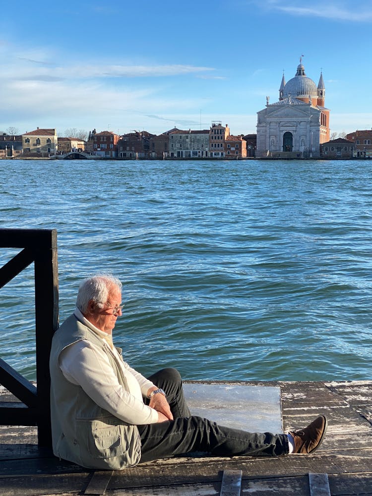
<path fill-rule="evenodd" d="M 122 283 L 111 274 L 96 274 L 84 279 L 80 284 L 76 298 L 76 308 L 82 313 L 88 310 L 88 304 L 93 300 L 99 308 L 107 302 L 112 287 L 122 290 Z"/>

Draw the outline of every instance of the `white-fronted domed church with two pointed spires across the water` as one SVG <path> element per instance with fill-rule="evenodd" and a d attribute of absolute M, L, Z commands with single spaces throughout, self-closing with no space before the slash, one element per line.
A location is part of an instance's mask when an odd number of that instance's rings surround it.
<path fill-rule="evenodd" d="M 295 77 L 282 77 L 279 101 L 257 112 L 256 157 L 317 158 L 320 144 L 329 141 L 329 110 L 324 107 L 325 87 L 305 73 L 300 58 Z"/>

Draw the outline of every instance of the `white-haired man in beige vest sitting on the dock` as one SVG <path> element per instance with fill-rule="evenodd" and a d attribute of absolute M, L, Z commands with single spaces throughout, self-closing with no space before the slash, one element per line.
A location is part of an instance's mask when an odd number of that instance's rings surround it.
<path fill-rule="evenodd" d="M 76 310 L 53 337 L 50 356 L 54 454 L 86 468 L 121 470 L 139 462 L 209 452 L 215 456 L 311 453 L 325 417 L 288 434 L 249 433 L 190 414 L 175 369 L 149 378 L 112 341 L 122 284 L 97 275 L 80 285 Z"/>

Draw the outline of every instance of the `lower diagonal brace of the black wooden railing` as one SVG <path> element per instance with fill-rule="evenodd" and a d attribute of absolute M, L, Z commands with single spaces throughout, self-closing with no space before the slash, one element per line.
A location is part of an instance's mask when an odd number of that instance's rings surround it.
<path fill-rule="evenodd" d="M 27 406 L 37 406 L 37 389 L 23 377 L 19 372 L 14 370 L 4 360 L 0 358 L 0 384 L 8 391 L 14 394 L 20 401 Z"/>

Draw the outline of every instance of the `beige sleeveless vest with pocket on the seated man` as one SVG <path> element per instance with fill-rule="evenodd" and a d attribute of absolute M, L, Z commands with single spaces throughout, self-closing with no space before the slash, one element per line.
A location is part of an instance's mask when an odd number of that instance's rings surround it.
<path fill-rule="evenodd" d="M 134 466 L 141 457 L 137 427 L 99 407 L 60 369 L 62 350 L 81 339 L 91 341 L 107 354 L 120 384 L 128 391 L 122 369 L 102 339 L 74 315 L 68 317 L 53 336 L 50 356 L 53 452 L 86 468 L 122 470 Z M 120 348 L 117 350 L 122 353 Z"/>

